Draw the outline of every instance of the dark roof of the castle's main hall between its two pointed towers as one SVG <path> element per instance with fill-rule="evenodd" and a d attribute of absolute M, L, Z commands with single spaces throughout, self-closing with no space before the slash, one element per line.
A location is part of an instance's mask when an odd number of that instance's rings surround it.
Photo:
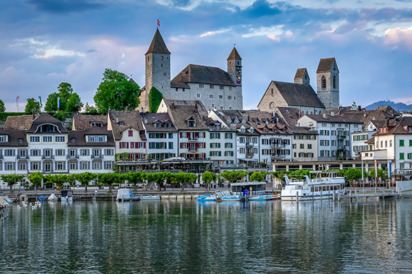
<path fill-rule="evenodd" d="M 187 83 L 236 86 L 229 73 L 214 66 L 189 64 L 170 82 L 172 88 L 189 88 Z M 208 86 L 205 88 L 209 88 Z"/>

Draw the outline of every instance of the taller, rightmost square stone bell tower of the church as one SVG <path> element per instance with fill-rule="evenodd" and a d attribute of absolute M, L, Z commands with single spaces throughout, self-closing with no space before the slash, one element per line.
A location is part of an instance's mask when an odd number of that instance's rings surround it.
<path fill-rule="evenodd" d="M 317 95 L 325 109 L 339 108 L 339 69 L 335 58 L 321 59 L 316 74 Z"/>

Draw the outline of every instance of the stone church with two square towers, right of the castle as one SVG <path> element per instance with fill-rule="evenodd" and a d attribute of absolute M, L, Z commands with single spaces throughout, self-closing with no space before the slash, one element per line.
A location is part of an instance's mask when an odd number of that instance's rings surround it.
<path fill-rule="evenodd" d="M 322 114 L 339 108 L 339 69 L 335 58 L 323 58 L 317 68 L 317 92 L 310 86 L 306 68 L 297 69 L 294 83 L 271 81 L 258 110 L 299 108 L 304 114 Z"/>

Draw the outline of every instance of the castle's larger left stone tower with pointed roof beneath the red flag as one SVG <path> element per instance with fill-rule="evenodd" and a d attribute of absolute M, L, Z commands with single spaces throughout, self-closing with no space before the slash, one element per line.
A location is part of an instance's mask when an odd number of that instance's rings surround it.
<path fill-rule="evenodd" d="M 146 90 L 149 91 L 154 86 L 162 94 L 170 92 L 170 51 L 159 29 L 156 29 L 148 52 L 145 53 L 145 60 Z"/>

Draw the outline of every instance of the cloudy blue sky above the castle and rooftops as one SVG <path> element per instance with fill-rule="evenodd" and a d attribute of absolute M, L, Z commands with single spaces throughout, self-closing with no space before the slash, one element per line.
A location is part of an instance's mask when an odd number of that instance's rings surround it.
<path fill-rule="evenodd" d="M 0 99 L 6 111 L 69 82 L 84 103 L 104 69 L 144 86 L 144 53 L 157 27 L 172 78 L 187 64 L 226 70 L 242 57 L 245 109 L 271 80 L 306 67 L 314 90 L 320 58 L 336 58 L 342 105 L 412 103 L 412 0 L 13 0 L 0 1 Z"/>

